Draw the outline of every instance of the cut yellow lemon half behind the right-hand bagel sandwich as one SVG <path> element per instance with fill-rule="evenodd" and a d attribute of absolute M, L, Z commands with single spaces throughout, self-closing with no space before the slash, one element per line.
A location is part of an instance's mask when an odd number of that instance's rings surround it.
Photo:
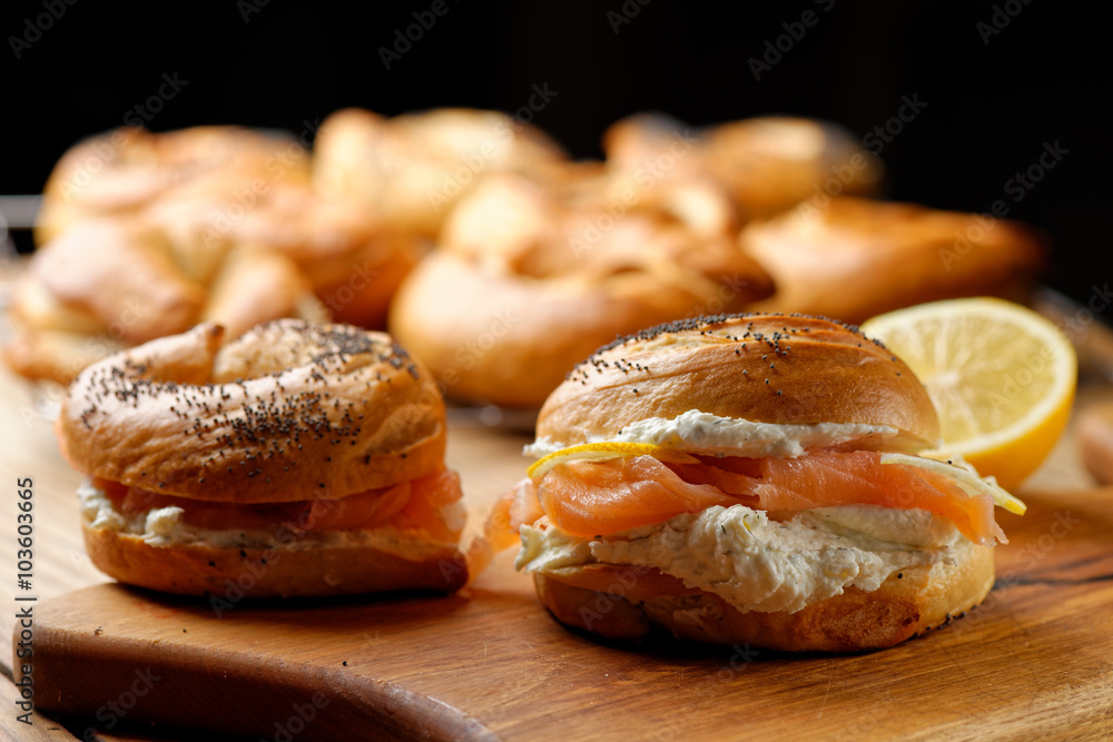
<path fill-rule="evenodd" d="M 898 309 L 861 329 L 908 364 L 939 413 L 942 451 L 1002 487 L 1018 486 L 1066 427 L 1077 360 L 1035 311 L 994 298 Z"/>

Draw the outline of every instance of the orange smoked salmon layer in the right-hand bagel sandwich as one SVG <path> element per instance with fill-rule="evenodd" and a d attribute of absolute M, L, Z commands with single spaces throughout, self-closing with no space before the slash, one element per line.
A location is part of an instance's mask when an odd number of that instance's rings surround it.
<path fill-rule="evenodd" d="M 516 499 L 524 494 L 520 491 Z M 787 517 L 814 507 L 866 504 L 923 508 L 948 518 L 976 544 L 1005 542 L 992 496 L 967 494 L 948 477 L 916 466 L 883 464 L 881 454 L 869 451 L 815 451 L 798 458 L 701 457 L 699 464 L 664 464 L 651 456 L 571 461 L 545 475 L 536 496 L 554 526 L 585 537 L 712 505 L 743 504 Z M 501 505 L 505 511 L 508 505 Z M 511 525 L 529 522 L 510 518 L 509 512 L 502 517 Z"/>

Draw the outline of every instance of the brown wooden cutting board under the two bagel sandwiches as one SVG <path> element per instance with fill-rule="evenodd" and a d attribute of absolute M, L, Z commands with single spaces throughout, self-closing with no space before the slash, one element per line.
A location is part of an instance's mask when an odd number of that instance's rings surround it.
<path fill-rule="evenodd" d="M 221 617 L 87 587 L 36 606 L 36 699 L 101 729 L 267 740 L 1107 739 L 1113 488 L 1026 501 L 1026 516 L 1002 514 L 1011 543 L 986 603 L 881 652 L 608 644 L 556 624 L 506 555 L 457 595 Z"/>

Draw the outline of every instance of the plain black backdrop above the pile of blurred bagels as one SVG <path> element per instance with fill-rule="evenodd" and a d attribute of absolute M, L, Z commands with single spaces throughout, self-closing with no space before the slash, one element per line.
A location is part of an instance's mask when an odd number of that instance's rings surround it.
<path fill-rule="evenodd" d="M 697 125 L 791 113 L 863 137 L 907 96 L 926 106 L 880 152 L 893 198 L 967 211 L 1004 199 L 1009 217 L 1053 236 L 1053 286 L 1086 301 L 1110 278 L 1113 13 L 1099 3 L 444 2 L 447 12 L 391 69 L 380 48 L 393 47 L 395 31 L 404 33 L 432 0 L 358 10 L 280 0 L 188 11 L 6 3 L 0 194 L 38 191 L 68 146 L 124 123 L 158 92 L 164 73 L 186 85 L 150 118 L 154 130 L 243 123 L 301 131 L 346 106 L 388 115 L 439 106 L 514 111 L 532 86 L 546 85 L 556 95 L 534 123 L 578 157 L 599 157 L 603 129 L 640 110 Z M 28 23 L 47 26 L 51 8 L 65 12 L 36 38 Z M 806 10 L 816 23 L 755 79 L 749 60 Z M 33 39 L 19 59 L 13 38 Z M 1016 200 L 1006 184 L 1038 161 L 1045 142 L 1068 154 Z"/>

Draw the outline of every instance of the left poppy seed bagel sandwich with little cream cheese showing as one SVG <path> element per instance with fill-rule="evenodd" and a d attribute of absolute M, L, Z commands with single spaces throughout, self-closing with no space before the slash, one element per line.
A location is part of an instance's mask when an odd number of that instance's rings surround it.
<path fill-rule="evenodd" d="M 201 324 L 70 385 L 57 434 L 86 475 L 92 563 L 214 598 L 461 587 L 460 478 L 429 372 L 348 325 L 223 339 Z"/>

